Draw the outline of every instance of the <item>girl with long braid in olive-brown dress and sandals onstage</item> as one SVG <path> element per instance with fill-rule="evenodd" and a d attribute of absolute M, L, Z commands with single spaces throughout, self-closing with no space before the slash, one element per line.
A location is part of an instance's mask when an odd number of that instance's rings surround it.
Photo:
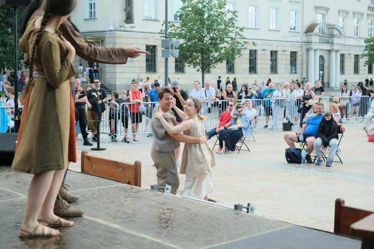
<path fill-rule="evenodd" d="M 75 117 L 68 79 L 75 75 L 75 49 L 58 31 L 76 0 L 44 0 L 44 15 L 34 16 L 19 40 L 30 58 L 29 81 L 12 169 L 34 174 L 19 237 L 51 237 L 73 221 L 53 213 L 68 162 L 76 162 Z M 56 131 L 58 136 L 56 136 Z M 39 217 L 38 217 L 39 215 Z"/>

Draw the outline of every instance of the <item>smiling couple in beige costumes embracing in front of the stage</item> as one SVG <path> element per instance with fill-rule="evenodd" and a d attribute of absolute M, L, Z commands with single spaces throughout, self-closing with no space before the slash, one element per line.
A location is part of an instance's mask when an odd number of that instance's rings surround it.
<path fill-rule="evenodd" d="M 157 184 L 171 186 L 171 193 L 176 194 L 179 187 L 179 177 L 175 162 L 174 150 L 180 142 L 186 143 L 183 150 L 181 174 L 186 174 L 186 182 L 182 196 L 199 199 L 209 199 L 208 193 L 213 191 L 213 167 L 217 164 L 213 151 L 205 140 L 205 117 L 199 115 L 201 102 L 189 98 L 184 105 L 184 111 L 175 106 L 174 91 L 163 87 L 157 92 L 160 104 L 153 110 L 153 144 L 151 157 L 157 169 Z M 177 125 L 174 108 L 183 123 Z M 185 134 L 180 134 L 180 132 Z M 187 135 L 186 135 L 187 134 Z"/>

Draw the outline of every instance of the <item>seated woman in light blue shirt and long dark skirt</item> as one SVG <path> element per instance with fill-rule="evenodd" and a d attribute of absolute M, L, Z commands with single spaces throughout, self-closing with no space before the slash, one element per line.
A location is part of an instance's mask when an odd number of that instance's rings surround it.
<path fill-rule="evenodd" d="M 236 111 L 236 113 L 234 113 Z M 235 151 L 235 145 L 242 137 L 251 134 L 251 126 L 249 125 L 249 116 L 245 113 L 244 106 L 237 103 L 231 111 L 231 126 L 220 131 L 220 147 L 222 148 L 218 154 L 229 154 Z"/>

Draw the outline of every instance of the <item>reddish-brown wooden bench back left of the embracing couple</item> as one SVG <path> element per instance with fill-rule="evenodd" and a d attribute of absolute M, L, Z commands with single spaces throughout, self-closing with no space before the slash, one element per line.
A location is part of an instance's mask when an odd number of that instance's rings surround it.
<path fill-rule="evenodd" d="M 141 187 L 140 161 L 126 164 L 125 162 L 90 156 L 87 150 L 82 150 L 81 157 L 81 172 Z"/>

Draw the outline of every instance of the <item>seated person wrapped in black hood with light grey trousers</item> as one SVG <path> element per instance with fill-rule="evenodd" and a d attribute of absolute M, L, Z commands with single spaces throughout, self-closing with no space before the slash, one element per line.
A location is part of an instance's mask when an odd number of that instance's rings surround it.
<path fill-rule="evenodd" d="M 317 139 L 314 141 L 313 147 L 316 152 L 316 165 L 322 164 L 321 146 L 330 146 L 330 151 L 327 156 L 326 166 L 330 167 L 336 151 L 338 150 L 338 124 L 332 118 L 331 113 L 325 113 L 324 118 L 318 127 Z"/>

